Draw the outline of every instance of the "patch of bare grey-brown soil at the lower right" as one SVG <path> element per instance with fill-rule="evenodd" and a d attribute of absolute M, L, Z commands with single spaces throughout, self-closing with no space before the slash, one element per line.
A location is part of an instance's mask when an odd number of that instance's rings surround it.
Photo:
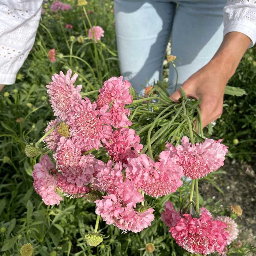
<path fill-rule="evenodd" d="M 199 183 L 200 191 L 204 191 L 204 199 L 212 198 L 214 202 L 221 200 L 223 208 L 239 204 L 243 213 L 236 219 L 240 230 L 238 239 L 256 246 L 256 163 L 247 165 L 227 159 L 222 170 L 226 174 L 220 174 L 214 179 L 224 195 L 212 184 L 203 181 Z"/>

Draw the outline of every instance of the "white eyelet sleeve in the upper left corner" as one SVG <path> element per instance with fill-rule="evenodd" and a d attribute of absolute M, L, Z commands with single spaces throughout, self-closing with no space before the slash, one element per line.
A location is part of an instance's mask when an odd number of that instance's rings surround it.
<path fill-rule="evenodd" d="M 43 0 L 0 0 L 0 84 L 13 84 L 35 41 Z"/>

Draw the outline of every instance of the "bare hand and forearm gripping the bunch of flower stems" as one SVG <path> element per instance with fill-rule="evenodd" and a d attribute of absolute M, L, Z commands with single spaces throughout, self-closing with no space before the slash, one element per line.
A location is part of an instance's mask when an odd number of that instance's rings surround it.
<path fill-rule="evenodd" d="M 250 44 L 251 39 L 243 33 L 227 33 L 211 61 L 182 84 L 188 97 L 201 99 L 199 106 L 203 127 L 222 114 L 225 86 Z M 170 98 L 178 101 L 180 90 Z"/>

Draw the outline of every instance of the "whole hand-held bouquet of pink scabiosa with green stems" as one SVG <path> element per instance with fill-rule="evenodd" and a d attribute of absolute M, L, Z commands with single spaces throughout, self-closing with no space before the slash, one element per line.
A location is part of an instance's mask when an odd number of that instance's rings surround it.
<path fill-rule="evenodd" d="M 43 154 L 34 165 L 33 185 L 44 203 L 59 204 L 63 196 L 94 202 L 97 221 L 85 238 L 97 246 L 104 238 L 100 217 L 125 232 L 140 232 L 154 220 L 144 196 L 176 192 L 187 176 L 188 203 L 177 212 L 167 201 L 161 219 L 188 252 L 221 253 L 237 237 L 236 223 L 199 208 L 198 179 L 223 165 L 227 147 L 203 138 L 199 102 L 183 94 L 174 103 L 160 82 L 137 99 L 122 76 L 105 81 L 99 91 L 81 93 L 76 77 L 71 69 L 52 76 L 46 87 L 56 119 L 38 142 L 27 139 L 27 156 Z M 87 97 L 97 93 L 96 101 Z M 43 141 L 46 148 L 40 147 Z"/>

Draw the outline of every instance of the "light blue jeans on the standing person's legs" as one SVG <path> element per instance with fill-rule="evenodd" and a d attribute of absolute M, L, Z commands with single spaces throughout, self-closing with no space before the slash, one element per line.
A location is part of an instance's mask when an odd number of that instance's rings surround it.
<path fill-rule="evenodd" d="M 223 39 L 226 0 L 114 0 L 121 74 L 137 92 L 162 79 L 167 43 L 178 70 L 178 87 L 210 61 Z M 170 65 L 169 82 L 176 73 Z M 170 93 L 174 91 L 174 86 Z"/>

